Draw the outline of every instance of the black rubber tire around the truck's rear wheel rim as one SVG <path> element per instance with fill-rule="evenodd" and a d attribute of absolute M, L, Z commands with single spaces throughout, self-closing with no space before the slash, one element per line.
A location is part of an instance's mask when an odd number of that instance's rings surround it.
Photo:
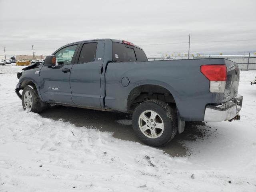
<path fill-rule="evenodd" d="M 159 114 L 161 121 L 164 123 L 164 130 L 158 138 L 149 138 L 140 130 L 140 115 L 152 110 Z M 150 146 L 164 146 L 170 142 L 178 131 L 178 118 L 176 109 L 172 109 L 168 104 L 159 100 L 147 100 L 139 104 L 132 115 L 132 126 L 138 138 Z M 150 130 L 150 129 L 149 129 Z"/>

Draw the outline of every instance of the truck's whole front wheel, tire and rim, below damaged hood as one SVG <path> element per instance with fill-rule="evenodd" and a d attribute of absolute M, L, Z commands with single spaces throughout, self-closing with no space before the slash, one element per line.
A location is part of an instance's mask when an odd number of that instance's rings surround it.
<path fill-rule="evenodd" d="M 36 87 L 32 85 L 28 85 L 23 89 L 21 100 L 24 110 L 35 113 L 40 113 L 49 106 L 49 104 L 40 100 Z"/>

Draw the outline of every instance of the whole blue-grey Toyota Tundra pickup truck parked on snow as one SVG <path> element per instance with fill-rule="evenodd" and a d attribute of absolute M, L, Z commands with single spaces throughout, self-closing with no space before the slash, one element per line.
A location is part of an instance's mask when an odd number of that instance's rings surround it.
<path fill-rule="evenodd" d="M 17 77 L 24 110 L 58 104 L 130 113 L 138 138 L 152 146 L 170 142 L 186 121 L 239 120 L 243 100 L 235 62 L 148 61 L 142 48 L 124 40 L 67 44 Z"/>

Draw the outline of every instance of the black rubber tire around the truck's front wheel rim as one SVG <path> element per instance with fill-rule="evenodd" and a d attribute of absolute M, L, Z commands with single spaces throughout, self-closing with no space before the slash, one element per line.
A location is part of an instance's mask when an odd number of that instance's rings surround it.
<path fill-rule="evenodd" d="M 26 110 L 26 105 L 24 102 L 24 95 L 26 92 L 30 92 L 30 94 L 32 95 L 32 106 L 30 109 L 28 109 L 31 112 L 34 113 L 40 113 L 42 112 L 44 109 L 48 108 L 49 104 L 42 102 L 42 100 L 40 100 L 39 96 L 38 96 L 38 92 L 36 89 L 36 86 L 34 85 L 28 85 L 26 86 L 23 91 L 22 91 L 22 107 L 24 110 Z"/>

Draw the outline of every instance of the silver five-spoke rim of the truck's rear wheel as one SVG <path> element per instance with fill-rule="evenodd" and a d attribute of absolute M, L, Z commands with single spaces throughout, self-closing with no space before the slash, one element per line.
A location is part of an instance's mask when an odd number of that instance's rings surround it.
<path fill-rule="evenodd" d="M 146 137 L 156 139 L 164 132 L 164 122 L 157 112 L 146 110 L 140 114 L 139 128 Z"/>

